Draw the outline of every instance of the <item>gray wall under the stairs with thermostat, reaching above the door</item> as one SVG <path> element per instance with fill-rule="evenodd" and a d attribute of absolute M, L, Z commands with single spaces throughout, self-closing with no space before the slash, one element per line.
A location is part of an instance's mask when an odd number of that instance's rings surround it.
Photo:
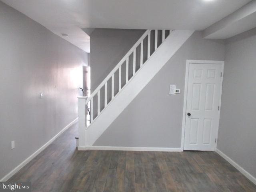
<path fill-rule="evenodd" d="M 195 32 L 94 145 L 180 148 L 186 60 L 224 60 L 224 54 L 224 41 Z M 170 84 L 181 94 L 168 95 Z"/>

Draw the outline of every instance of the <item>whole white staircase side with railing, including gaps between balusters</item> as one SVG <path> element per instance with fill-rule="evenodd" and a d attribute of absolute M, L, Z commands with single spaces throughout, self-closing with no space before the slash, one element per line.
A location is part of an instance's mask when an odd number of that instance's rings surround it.
<path fill-rule="evenodd" d="M 146 30 L 90 97 L 78 97 L 78 150 L 90 149 L 193 32 Z"/>

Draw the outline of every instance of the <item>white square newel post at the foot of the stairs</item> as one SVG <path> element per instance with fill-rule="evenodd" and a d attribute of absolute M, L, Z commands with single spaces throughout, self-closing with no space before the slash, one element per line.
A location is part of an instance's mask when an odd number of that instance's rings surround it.
<path fill-rule="evenodd" d="M 78 97 L 78 150 L 85 150 L 86 134 L 86 100 L 88 97 Z"/>

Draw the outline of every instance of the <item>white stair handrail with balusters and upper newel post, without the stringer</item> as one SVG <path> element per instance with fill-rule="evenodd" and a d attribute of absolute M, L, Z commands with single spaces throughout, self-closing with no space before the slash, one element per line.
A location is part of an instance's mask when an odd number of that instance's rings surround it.
<path fill-rule="evenodd" d="M 144 34 L 140 37 L 140 39 L 132 46 L 132 48 L 126 53 L 126 55 L 120 60 L 120 62 L 114 67 L 114 69 L 106 76 L 106 78 L 100 83 L 100 85 L 92 92 L 92 94 L 87 97 L 78 97 L 80 100 L 78 102 L 78 110 L 79 110 L 79 126 L 83 126 L 85 124 L 85 128 L 89 127 L 96 118 L 103 112 L 103 110 L 114 100 L 114 98 L 122 91 L 122 89 L 128 84 L 130 80 L 140 71 L 140 69 L 146 64 L 147 60 L 152 56 L 154 52 L 159 48 L 160 44 L 164 42 L 164 40 L 169 36 L 170 30 L 154 30 L 154 36 L 151 35 L 153 30 L 146 30 Z M 158 32 L 162 32 L 162 39 L 158 38 Z M 147 41 L 147 47 L 144 46 L 144 39 L 148 37 Z M 152 39 L 153 38 L 153 39 Z M 151 41 L 154 42 L 154 50 L 151 48 Z M 159 43 L 160 42 L 160 43 Z M 140 46 L 140 60 L 139 68 L 136 70 L 136 48 Z M 147 48 L 147 49 L 146 49 Z M 143 52 L 144 49 L 146 49 L 146 60 L 143 62 Z M 150 51 L 152 50 L 152 51 Z M 133 55 L 133 61 L 132 61 L 132 76 L 129 79 L 129 57 Z M 122 65 L 125 64 L 125 84 L 122 86 Z M 114 94 L 114 84 L 115 84 L 115 73 L 118 70 L 118 92 Z M 108 83 L 110 82 L 111 78 L 111 90 L 108 90 Z M 104 105 L 101 105 L 100 95 L 101 90 L 103 90 L 104 87 Z M 110 86 L 109 86 L 110 87 Z M 111 91 L 111 100 L 108 102 L 108 92 Z M 102 93 L 103 94 L 103 93 Z M 94 97 L 97 96 L 98 99 L 94 100 Z M 97 101 L 97 113 L 94 112 L 94 102 Z M 87 107 L 90 108 L 90 121 L 86 123 L 86 111 Z M 94 115 L 95 114 L 95 115 Z M 95 118 L 94 118 L 95 117 Z M 81 119 L 83 118 L 83 119 Z M 79 128 L 81 131 L 81 134 L 85 130 L 81 130 L 81 127 Z M 80 142 L 80 141 L 79 141 Z"/>

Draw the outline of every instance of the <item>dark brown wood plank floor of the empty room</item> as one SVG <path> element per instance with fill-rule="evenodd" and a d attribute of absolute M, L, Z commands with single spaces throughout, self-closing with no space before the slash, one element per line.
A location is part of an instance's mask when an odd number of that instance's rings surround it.
<path fill-rule="evenodd" d="M 33 192 L 256 192 L 215 152 L 77 151 L 77 124 L 9 181 Z"/>

